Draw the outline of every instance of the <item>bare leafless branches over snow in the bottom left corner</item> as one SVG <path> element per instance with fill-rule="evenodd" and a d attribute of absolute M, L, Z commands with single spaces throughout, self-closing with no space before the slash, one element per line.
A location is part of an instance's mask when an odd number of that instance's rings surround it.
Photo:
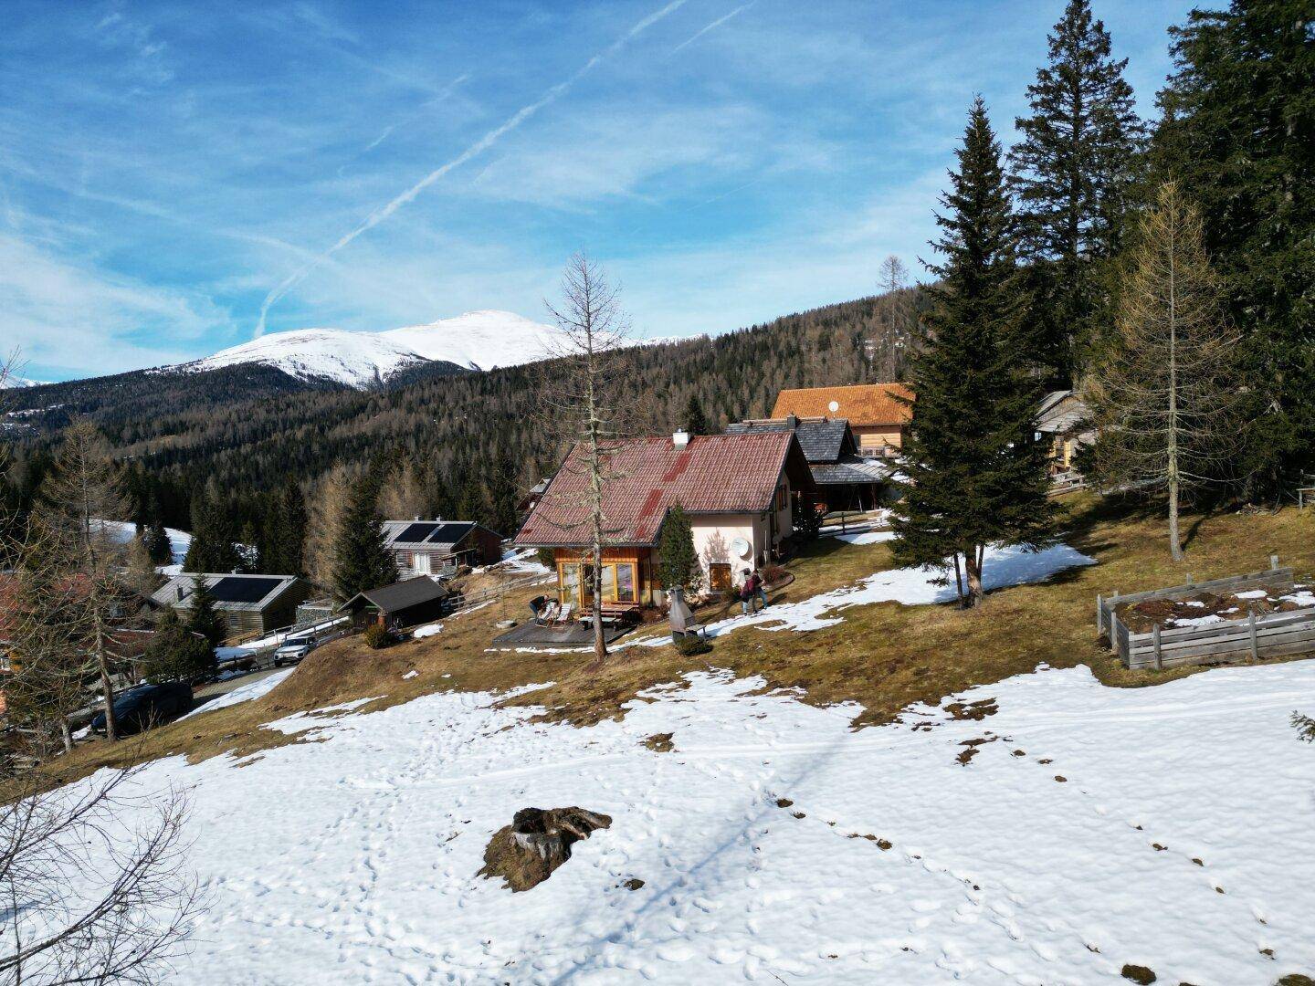
<path fill-rule="evenodd" d="M 185 866 L 181 793 L 139 768 L 68 787 L 30 774 L 0 805 L 0 982 L 155 983 L 205 899 Z"/>

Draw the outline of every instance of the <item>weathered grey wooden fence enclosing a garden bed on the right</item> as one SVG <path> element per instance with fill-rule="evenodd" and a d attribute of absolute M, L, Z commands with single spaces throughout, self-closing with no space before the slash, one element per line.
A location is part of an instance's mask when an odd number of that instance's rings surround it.
<path fill-rule="evenodd" d="M 1260 657 L 1315 651 L 1315 609 L 1289 613 L 1248 614 L 1247 619 L 1222 621 L 1206 626 L 1172 627 L 1156 624 L 1148 634 L 1134 634 L 1119 619 L 1115 606 L 1147 599 L 1166 599 L 1197 592 L 1236 593 L 1248 589 L 1279 592 L 1293 586 L 1293 569 L 1279 568 L 1270 557 L 1270 568 L 1261 572 L 1211 578 L 1151 592 L 1095 597 L 1095 627 L 1107 636 L 1110 648 L 1127 668 L 1172 668 L 1178 664 L 1224 664 Z"/>

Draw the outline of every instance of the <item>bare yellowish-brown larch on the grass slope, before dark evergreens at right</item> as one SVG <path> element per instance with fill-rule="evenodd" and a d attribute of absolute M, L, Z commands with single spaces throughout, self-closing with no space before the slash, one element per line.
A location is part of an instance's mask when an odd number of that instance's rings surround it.
<path fill-rule="evenodd" d="M 1120 277 L 1114 335 L 1085 396 L 1099 429 L 1097 468 L 1119 485 L 1164 490 L 1169 551 L 1185 490 L 1218 480 L 1237 406 L 1239 335 L 1210 268 L 1201 216 L 1166 181 L 1137 223 Z"/>

